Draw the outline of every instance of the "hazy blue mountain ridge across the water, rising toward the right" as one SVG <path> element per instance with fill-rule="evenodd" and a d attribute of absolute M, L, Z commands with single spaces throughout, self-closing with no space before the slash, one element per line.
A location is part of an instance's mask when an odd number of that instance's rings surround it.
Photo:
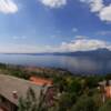
<path fill-rule="evenodd" d="M 71 56 L 71 57 L 90 57 L 90 58 L 101 58 L 111 59 L 111 51 L 109 49 L 97 49 L 90 51 L 77 51 L 77 52 L 53 52 L 53 53 L 34 53 L 37 56 Z"/>

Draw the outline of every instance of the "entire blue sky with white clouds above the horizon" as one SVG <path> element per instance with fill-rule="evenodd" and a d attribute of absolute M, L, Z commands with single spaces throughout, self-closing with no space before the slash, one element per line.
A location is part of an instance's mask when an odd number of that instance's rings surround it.
<path fill-rule="evenodd" d="M 111 50 L 111 0 L 0 0 L 0 52 Z"/>

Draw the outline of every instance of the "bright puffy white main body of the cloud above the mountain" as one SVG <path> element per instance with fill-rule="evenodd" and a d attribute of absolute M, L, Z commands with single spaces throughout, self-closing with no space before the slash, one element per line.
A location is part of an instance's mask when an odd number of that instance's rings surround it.
<path fill-rule="evenodd" d="M 74 40 L 73 42 L 63 43 L 61 44 L 61 48 L 64 51 L 88 51 L 88 50 L 95 50 L 98 48 L 107 48 L 108 44 L 104 41 L 101 40 Z"/>

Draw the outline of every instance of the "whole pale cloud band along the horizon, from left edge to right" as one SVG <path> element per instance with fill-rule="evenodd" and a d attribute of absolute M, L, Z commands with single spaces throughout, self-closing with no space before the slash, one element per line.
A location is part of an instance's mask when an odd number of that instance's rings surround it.
<path fill-rule="evenodd" d="M 77 39 L 81 37 L 82 39 Z M 0 44 L 0 52 L 7 53 L 37 53 L 37 52 L 74 52 L 89 51 L 99 48 L 111 50 L 111 42 L 89 39 L 88 37 L 77 36 L 70 42 L 61 42 L 59 46 L 38 46 L 38 44 Z"/>

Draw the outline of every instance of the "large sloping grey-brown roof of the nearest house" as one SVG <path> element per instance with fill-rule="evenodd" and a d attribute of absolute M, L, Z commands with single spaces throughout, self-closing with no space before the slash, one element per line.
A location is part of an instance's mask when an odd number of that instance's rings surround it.
<path fill-rule="evenodd" d="M 42 85 L 37 85 L 31 81 L 14 78 L 11 75 L 0 74 L 0 94 L 17 105 L 18 99 L 21 97 L 26 97 L 26 93 L 29 88 L 33 89 L 37 99 L 39 99 L 40 92 L 43 89 Z M 46 91 L 47 88 L 48 87 L 44 87 Z M 13 98 L 13 93 L 17 93 L 18 99 Z"/>

